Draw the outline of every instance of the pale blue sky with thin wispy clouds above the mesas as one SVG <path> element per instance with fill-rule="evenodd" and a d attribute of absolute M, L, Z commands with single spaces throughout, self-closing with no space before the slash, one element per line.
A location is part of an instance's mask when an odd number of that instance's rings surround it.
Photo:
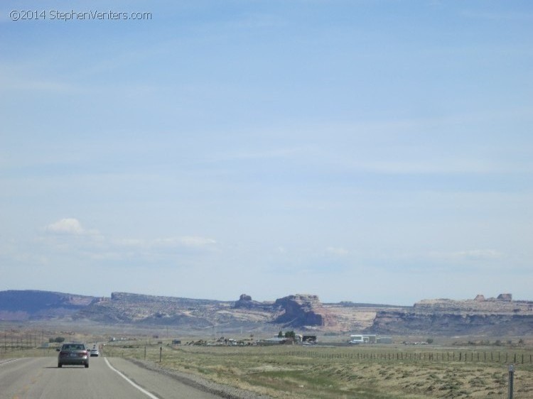
<path fill-rule="evenodd" d="M 0 290 L 533 300 L 532 83 L 529 0 L 2 1 Z"/>

